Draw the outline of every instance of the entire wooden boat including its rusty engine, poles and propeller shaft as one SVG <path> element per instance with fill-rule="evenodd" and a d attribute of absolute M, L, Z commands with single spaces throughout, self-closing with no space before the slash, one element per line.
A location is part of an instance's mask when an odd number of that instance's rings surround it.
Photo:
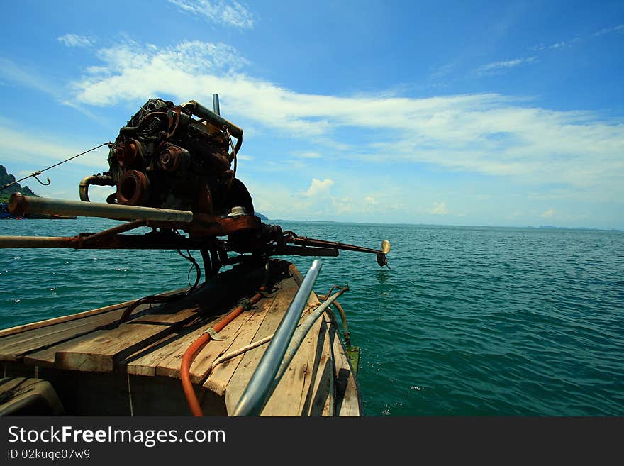
<path fill-rule="evenodd" d="M 195 265 L 197 281 L 187 290 L 0 331 L 0 414 L 361 414 L 359 353 L 335 301 L 348 287 L 330 290 L 321 303 L 313 292 L 320 262 L 302 277 L 274 256 L 356 250 L 374 253 L 384 266 L 390 245 L 362 248 L 262 223 L 235 178 L 243 130 L 220 116 L 218 99 L 214 106 L 150 99 L 108 143 L 110 170 L 79 184 L 81 201 L 11 194 L 14 215 L 126 223 L 69 238 L 4 236 L 0 248 L 178 250 Z M 116 192 L 106 204 L 91 202 L 91 184 Z M 152 231 L 125 234 L 145 226 Z M 181 250 L 200 251 L 203 285 L 199 265 Z M 234 266 L 220 272 L 225 265 Z M 340 312 L 344 343 L 330 304 Z"/>

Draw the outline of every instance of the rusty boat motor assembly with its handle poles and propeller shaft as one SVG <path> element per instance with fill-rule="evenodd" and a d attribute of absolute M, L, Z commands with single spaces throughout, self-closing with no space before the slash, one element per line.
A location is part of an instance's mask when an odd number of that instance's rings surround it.
<path fill-rule="evenodd" d="M 176 105 L 150 99 L 119 130 L 114 143 L 101 144 L 110 147 L 108 171 L 82 179 L 79 202 L 21 193 L 9 199 L 9 211 L 16 216 L 79 215 L 127 223 L 72 238 L 0 238 L 0 248 L 176 249 L 183 256 L 181 250 L 196 249 L 201 251 L 206 277 L 216 274 L 221 265 L 249 257 L 335 257 L 338 250 L 372 253 L 379 266 L 388 266 L 386 240 L 381 249 L 364 248 L 299 236 L 262 223 L 247 188 L 235 177 L 243 130 L 220 115 L 218 94 L 213 94 L 213 108 L 193 100 Z M 116 187 L 106 199 L 109 205 L 89 202 L 92 184 Z M 121 234 L 144 226 L 152 231 L 143 236 Z M 238 256 L 228 257 L 229 252 Z M 190 255 L 184 257 L 199 270 Z"/>

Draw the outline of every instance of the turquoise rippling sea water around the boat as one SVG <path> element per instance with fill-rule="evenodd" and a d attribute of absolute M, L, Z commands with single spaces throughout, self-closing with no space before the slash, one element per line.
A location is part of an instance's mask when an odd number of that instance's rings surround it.
<path fill-rule="evenodd" d="M 114 224 L 2 221 L 0 234 Z M 374 255 L 321 258 L 315 288 L 351 287 L 340 301 L 362 348 L 367 416 L 624 415 L 623 232 L 279 224 L 313 238 L 392 243 L 391 270 Z M 312 258 L 292 260 L 305 273 Z M 0 250 L 0 328 L 188 280 L 175 251 Z"/>

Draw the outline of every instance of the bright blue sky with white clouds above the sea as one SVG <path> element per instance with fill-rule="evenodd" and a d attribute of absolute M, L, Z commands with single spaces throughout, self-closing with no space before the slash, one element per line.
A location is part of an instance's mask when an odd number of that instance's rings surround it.
<path fill-rule="evenodd" d="M 624 2 L 0 1 L 0 164 L 114 140 L 152 97 L 243 128 L 282 220 L 624 228 Z M 48 170 L 79 199 L 107 148 Z M 104 201 L 110 187 L 91 187 Z"/>

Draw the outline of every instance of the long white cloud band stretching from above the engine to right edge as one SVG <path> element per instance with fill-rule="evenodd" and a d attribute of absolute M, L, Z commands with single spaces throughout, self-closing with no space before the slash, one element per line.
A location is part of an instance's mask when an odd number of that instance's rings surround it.
<path fill-rule="evenodd" d="M 594 113 L 542 109 L 494 93 L 427 99 L 301 94 L 241 72 L 243 59 L 233 48 L 201 42 L 118 45 L 98 56 L 102 63 L 72 84 L 77 104 L 142 104 L 162 94 L 210 101 L 213 91 L 228 89 L 223 98 L 232 118 L 317 146 L 333 144 L 333 157 L 418 162 L 533 185 L 608 187 L 613 196 L 624 196 L 624 123 L 601 121 Z M 339 137 L 341 128 L 364 131 L 367 142 L 357 133 Z"/>

